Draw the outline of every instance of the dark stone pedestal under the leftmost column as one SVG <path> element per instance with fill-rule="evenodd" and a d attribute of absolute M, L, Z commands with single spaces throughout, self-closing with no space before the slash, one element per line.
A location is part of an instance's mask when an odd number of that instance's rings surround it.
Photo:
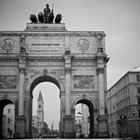
<path fill-rule="evenodd" d="M 24 116 L 18 116 L 16 118 L 15 137 L 25 138 L 25 117 Z"/>

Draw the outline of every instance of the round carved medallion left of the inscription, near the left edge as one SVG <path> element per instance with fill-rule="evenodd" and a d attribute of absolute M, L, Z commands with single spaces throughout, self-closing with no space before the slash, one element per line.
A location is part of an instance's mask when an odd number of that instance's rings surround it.
<path fill-rule="evenodd" d="M 2 49 L 8 53 L 14 48 L 14 42 L 12 39 L 6 38 L 1 42 L 1 46 Z"/>

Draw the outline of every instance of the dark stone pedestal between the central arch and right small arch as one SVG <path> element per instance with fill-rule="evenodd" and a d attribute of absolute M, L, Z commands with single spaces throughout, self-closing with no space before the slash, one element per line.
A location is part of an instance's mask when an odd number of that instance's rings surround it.
<path fill-rule="evenodd" d="M 64 138 L 74 138 L 74 126 L 73 117 L 71 115 L 66 115 L 64 117 Z"/>

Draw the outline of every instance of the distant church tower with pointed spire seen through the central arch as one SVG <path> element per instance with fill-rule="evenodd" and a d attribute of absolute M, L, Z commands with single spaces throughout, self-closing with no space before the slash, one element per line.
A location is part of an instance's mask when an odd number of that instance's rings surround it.
<path fill-rule="evenodd" d="M 44 101 L 42 97 L 41 91 L 39 92 L 38 96 L 38 105 L 37 105 L 37 117 L 39 122 L 44 122 Z"/>

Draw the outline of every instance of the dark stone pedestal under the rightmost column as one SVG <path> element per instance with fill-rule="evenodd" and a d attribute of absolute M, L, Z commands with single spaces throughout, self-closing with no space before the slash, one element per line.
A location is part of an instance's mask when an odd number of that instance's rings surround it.
<path fill-rule="evenodd" d="M 98 137 L 99 138 L 108 137 L 107 116 L 106 115 L 100 115 L 98 117 Z"/>

